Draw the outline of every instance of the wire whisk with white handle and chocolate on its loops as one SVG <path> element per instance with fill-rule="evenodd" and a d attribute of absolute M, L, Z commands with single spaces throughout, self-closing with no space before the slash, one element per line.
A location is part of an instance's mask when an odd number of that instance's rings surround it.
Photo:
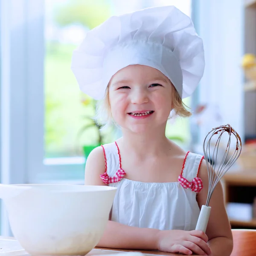
<path fill-rule="evenodd" d="M 221 148 L 224 152 L 221 152 Z M 207 164 L 209 188 L 207 201 L 205 205 L 202 205 L 196 230 L 206 231 L 211 210 L 209 201 L 212 193 L 224 174 L 239 158 L 241 148 L 241 138 L 229 124 L 212 129 L 205 137 L 203 150 Z"/>

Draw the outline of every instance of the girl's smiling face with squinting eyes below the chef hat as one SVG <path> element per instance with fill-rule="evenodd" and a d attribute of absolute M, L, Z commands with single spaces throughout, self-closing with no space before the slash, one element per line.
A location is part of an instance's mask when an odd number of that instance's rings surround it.
<path fill-rule="evenodd" d="M 122 128 L 136 133 L 165 128 L 173 90 L 159 70 L 143 65 L 125 67 L 109 84 L 112 117 Z"/>

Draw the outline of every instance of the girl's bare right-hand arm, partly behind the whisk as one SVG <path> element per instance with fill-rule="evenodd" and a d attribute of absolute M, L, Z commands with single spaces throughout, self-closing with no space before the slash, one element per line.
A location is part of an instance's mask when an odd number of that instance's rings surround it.
<path fill-rule="evenodd" d="M 201 208 L 206 203 L 208 193 L 208 173 L 205 160 L 202 162 L 199 177 L 204 188 L 197 195 L 198 205 Z M 218 183 L 212 193 L 209 206 L 212 207 L 206 230 L 208 244 L 212 250 L 212 256 L 230 256 L 233 249 L 233 237 L 230 222 L 224 205 L 224 197 L 221 183 Z"/>

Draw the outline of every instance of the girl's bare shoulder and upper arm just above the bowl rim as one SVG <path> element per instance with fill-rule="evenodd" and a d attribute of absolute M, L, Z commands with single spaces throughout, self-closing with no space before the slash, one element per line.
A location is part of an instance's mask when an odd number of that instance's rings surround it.
<path fill-rule="evenodd" d="M 100 178 L 105 172 L 105 157 L 101 146 L 94 148 L 86 160 L 84 184 L 85 185 L 106 185 Z"/>

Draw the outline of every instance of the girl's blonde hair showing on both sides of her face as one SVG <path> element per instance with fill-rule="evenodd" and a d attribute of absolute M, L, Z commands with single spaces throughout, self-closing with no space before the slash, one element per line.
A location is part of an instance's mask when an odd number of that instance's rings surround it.
<path fill-rule="evenodd" d="M 172 94 L 172 111 L 175 112 L 175 115 L 178 115 L 180 117 L 191 116 L 191 112 L 186 109 L 189 107 L 184 104 L 175 87 L 173 85 L 172 87 L 174 89 Z M 169 119 L 171 119 L 171 116 L 169 116 Z M 109 84 L 106 88 L 104 99 L 99 101 L 97 104 L 95 120 L 99 123 L 102 123 L 104 125 L 103 128 L 109 125 L 116 125 L 113 121 L 111 113 L 111 105 L 109 100 Z"/>

